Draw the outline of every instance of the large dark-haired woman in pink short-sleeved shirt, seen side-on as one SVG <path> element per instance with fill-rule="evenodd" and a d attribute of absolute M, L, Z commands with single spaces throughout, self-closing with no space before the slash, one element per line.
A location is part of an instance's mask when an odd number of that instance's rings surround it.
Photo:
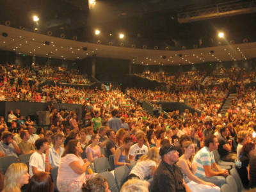
<path fill-rule="evenodd" d="M 83 152 L 78 140 L 70 140 L 61 157 L 57 176 L 57 188 L 61 192 L 79 192 L 86 179 L 89 161 L 80 157 Z"/>

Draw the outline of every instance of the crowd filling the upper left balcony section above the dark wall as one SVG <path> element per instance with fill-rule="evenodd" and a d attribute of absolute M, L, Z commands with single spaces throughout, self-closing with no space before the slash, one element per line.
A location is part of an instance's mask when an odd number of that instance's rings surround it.
<path fill-rule="evenodd" d="M 34 64 L 34 63 L 33 63 Z M 67 70 L 64 67 L 34 64 L 20 67 L 6 63 L 0 65 L 0 100 L 26 100 L 29 102 L 77 102 L 79 88 L 75 84 L 86 85 L 91 81 L 78 70 Z M 50 80 L 51 84 L 44 84 Z M 44 85 L 44 86 L 41 86 Z M 55 86 L 51 86 L 55 84 Z M 61 100 L 61 97 L 65 99 Z M 79 103 L 81 103 L 79 101 Z"/>

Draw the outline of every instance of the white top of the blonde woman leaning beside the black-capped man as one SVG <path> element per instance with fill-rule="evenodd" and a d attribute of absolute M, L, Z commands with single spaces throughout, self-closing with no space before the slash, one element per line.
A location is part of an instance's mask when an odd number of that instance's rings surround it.
<path fill-rule="evenodd" d="M 137 175 L 141 180 L 144 180 L 148 176 L 152 175 L 151 167 L 156 167 L 156 162 L 152 160 L 148 161 L 139 161 L 132 168 L 130 174 Z"/>

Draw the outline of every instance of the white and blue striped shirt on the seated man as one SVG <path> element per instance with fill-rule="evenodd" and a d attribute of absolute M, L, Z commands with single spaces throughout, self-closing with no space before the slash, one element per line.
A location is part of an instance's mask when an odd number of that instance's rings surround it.
<path fill-rule="evenodd" d="M 204 165 L 211 166 L 214 163 L 214 154 L 209 151 L 208 147 L 201 148 L 193 160 L 197 164 L 196 177 L 205 177 Z"/>

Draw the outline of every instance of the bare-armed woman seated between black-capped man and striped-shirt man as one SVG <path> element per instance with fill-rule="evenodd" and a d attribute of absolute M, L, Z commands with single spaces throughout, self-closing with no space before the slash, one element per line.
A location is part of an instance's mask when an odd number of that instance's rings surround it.
<path fill-rule="evenodd" d="M 195 144 L 192 141 L 186 141 L 183 144 L 184 154 L 180 157 L 177 165 L 181 168 L 184 181 L 192 192 L 211 191 L 220 192 L 220 188 L 211 182 L 205 182 L 194 175 L 196 164 L 192 164 L 191 159 L 195 155 Z"/>

